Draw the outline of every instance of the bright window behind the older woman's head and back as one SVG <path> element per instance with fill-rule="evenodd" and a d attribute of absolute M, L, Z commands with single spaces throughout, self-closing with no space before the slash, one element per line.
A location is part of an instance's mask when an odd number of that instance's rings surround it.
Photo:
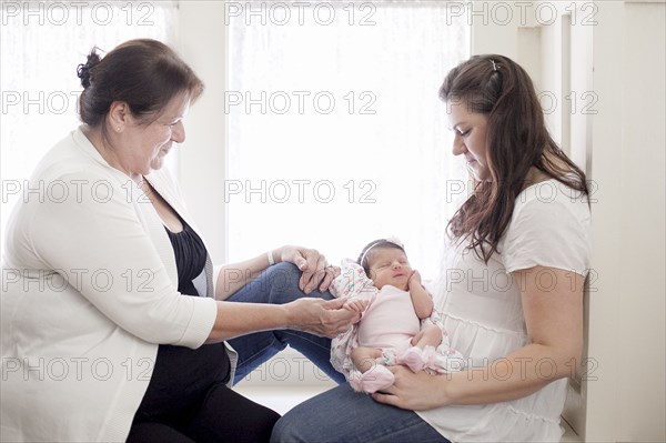
<path fill-rule="evenodd" d="M 0 30 L 1 234 L 41 157 L 80 124 L 77 66 L 94 46 L 173 39 L 175 3 L 2 2 Z M 101 52 L 103 54 L 103 52 Z M 43 192 L 48 192 L 44 189 Z M 48 195 L 48 194 L 47 194 Z"/>

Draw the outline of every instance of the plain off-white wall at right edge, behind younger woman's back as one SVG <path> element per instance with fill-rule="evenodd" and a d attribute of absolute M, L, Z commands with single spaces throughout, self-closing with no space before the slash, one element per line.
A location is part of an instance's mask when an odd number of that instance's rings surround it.
<path fill-rule="evenodd" d="M 665 431 L 666 4 L 598 2 L 594 84 L 594 266 L 588 437 L 663 442 Z M 601 425 L 604 423 L 604 425 Z"/>

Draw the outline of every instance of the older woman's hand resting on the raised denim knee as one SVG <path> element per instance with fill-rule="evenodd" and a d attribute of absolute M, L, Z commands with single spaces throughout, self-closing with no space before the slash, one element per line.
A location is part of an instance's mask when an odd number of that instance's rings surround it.
<path fill-rule="evenodd" d="M 294 263 L 302 272 L 299 289 L 306 294 L 319 288 L 326 291 L 333 279 L 340 275 L 340 268 L 330 265 L 326 258 L 314 249 L 286 245 L 280 248 L 280 261 Z"/>

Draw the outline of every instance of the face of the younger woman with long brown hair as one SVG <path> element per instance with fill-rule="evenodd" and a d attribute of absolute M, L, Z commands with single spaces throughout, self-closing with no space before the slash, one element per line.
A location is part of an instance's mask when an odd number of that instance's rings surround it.
<path fill-rule="evenodd" d="M 491 180 L 487 160 L 486 133 L 488 119 L 485 114 L 470 112 L 464 101 L 447 103 L 448 128 L 455 133 L 453 154 L 465 155 L 467 169 L 476 180 Z"/>

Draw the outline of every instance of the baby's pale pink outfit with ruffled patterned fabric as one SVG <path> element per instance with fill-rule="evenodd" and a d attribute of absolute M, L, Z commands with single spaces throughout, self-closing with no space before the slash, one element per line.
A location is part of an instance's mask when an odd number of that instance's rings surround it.
<path fill-rule="evenodd" d="M 433 310 L 430 319 L 420 320 L 414 311 L 410 292 L 392 285 L 381 290 L 367 278 L 363 268 L 351 260 L 342 262 L 341 274 L 333 280 L 331 293 L 335 298 L 367 300 L 369 305 L 361 320 L 346 332 L 339 334 L 331 343 L 333 368 L 350 380 L 355 371 L 352 351 L 357 346 L 377 348 L 384 351 L 385 365 L 395 364 L 389 355 L 400 355 L 412 346 L 411 340 L 425 323 L 442 329 L 442 343 L 437 346 L 436 366 L 428 368 L 433 373 L 456 372 L 463 369 L 462 354 L 448 344 L 448 336 L 442 326 L 440 313 Z"/>

